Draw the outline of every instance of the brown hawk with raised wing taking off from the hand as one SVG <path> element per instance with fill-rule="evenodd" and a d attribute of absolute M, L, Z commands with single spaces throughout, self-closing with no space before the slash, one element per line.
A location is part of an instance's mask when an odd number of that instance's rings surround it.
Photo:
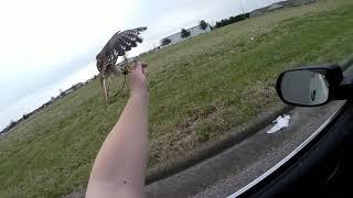
<path fill-rule="evenodd" d="M 125 56 L 126 52 L 130 51 L 132 47 L 137 47 L 137 43 L 142 43 L 142 38 L 139 37 L 139 34 L 146 30 L 147 28 L 142 26 L 115 33 L 108 43 L 103 47 L 101 52 L 96 56 L 97 69 L 100 74 L 100 84 L 106 103 L 108 103 L 108 77 L 111 74 L 127 75 L 129 72 L 127 63 L 118 65 L 116 64 L 118 57 Z"/>

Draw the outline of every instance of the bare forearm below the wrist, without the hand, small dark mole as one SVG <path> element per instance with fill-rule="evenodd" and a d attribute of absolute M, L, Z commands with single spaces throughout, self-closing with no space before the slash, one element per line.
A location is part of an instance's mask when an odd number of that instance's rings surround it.
<path fill-rule="evenodd" d="M 115 189 L 143 190 L 148 151 L 148 96 L 131 95 L 95 161 L 92 180 Z M 89 187 L 88 185 L 88 187 Z"/>

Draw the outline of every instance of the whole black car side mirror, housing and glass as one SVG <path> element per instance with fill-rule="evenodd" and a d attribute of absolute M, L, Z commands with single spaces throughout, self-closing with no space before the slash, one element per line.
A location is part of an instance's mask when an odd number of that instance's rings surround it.
<path fill-rule="evenodd" d="M 328 103 L 343 79 L 338 65 L 301 67 L 284 72 L 277 80 L 280 99 L 293 106 L 317 107 Z"/>

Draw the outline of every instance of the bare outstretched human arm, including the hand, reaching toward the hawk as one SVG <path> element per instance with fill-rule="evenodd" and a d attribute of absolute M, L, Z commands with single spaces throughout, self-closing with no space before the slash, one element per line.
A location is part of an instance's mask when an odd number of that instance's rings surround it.
<path fill-rule="evenodd" d="M 129 74 L 130 98 L 94 163 L 86 197 L 143 197 L 148 152 L 148 88 L 140 63 Z"/>

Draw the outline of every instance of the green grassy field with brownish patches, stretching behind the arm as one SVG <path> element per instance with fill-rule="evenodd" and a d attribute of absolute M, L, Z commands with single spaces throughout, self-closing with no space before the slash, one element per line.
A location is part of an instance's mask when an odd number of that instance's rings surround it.
<path fill-rule="evenodd" d="M 163 48 L 150 65 L 149 168 L 185 156 L 279 102 L 278 74 L 338 62 L 353 50 L 353 2 L 286 9 Z M 115 79 L 115 91 L 121 79 Z M 0 140 L 0 197 L 58 197 L 84 189 L 97 151 L 127 101 L 104 109 L 97 80 Z"/>

